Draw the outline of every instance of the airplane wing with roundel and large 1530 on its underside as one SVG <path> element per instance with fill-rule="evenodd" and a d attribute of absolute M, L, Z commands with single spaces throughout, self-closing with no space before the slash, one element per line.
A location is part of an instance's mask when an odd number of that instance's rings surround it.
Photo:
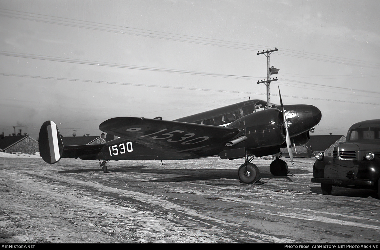
<path fill-rule="evenodd" d="M 168 153 L 187 152 L 200 156 L 222 148 L 239 133 L 238 129 L 230 127 L 137 117 L 111 118 L 101 123 L 99 129 Z"/>

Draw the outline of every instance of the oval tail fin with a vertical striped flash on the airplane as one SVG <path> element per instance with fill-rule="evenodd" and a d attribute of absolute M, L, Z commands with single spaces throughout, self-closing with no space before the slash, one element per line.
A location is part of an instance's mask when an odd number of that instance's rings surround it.
<path fill-rule="evenodd" d="M 45 121 L 38 136 L 38 146 L 42 159 L 53 164 L 61 159 L 63 143 L 57 124 L 52 121 Z"/>

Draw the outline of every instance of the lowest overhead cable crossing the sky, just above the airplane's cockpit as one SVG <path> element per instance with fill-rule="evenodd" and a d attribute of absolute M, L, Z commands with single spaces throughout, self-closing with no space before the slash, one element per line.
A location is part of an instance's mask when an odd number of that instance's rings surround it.
<path fill-rule="evenodd" d="M 0 75 L 13 76 L 13 77 L 37 78 L 37 79 L 65 80 L 65 81 L 74 81 L 74 82 L 107 83 L 107 84 L 115 84 L 115 85 L 144 86 L 144 87 L 155 87 L 155 88 L 171 88 L 171 89 L 181 89 L 181 90 L 214 91 L 214 92 L 223 92 L 223 93 L 242 93 L 242 94 L 263 94 L 263 95 L 265 94 L 265 93 L 258 93 L 258 92 L 245 92 L 245 91 L 232 91 L 232 90 L 212 90 L 212 89 L 202 89 L 202 88 L 186 88 L 186 87 L 177 87 L 177 86 L 163 86 L 163 85 L 123 83 L 123 82 L 106 82 L 106 81 L 70 79 L 70 78 L 61 78 L 61 77 L 44 77 L 44 76 L 34 76 L 34 75 L 17 75 L 17 74 L 5 74 L 5 73 L 0 73 Z M 272 96 L 278 96 L 278 95 L 272 94 Z M 332 102 L 347 102 L 347 103 L 356 103 L 356 104 L 380 105 L 378 103 L 343 101 L 343 100 L 334 100 L 334 99 L 305 97 L 305 96 L 290 96 L 290 95 L 284 95 L 284 94 L 282 94 L 281 96 L 293 97 L 293 98 L 299 98 L 299 99 L 312 99 L 312 100 L 318 100 L 318 101 L 332 101 Z"/>

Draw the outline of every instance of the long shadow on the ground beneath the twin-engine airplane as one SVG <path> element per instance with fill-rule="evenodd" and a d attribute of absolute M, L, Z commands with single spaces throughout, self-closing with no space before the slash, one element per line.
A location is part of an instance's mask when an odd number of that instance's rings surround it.
<path fill-rule="evenodd" d="M 239 179 L 237 176 L 237 168 L 234 169 L 145 169 L 147 166 L 128 166 L 119 168 L 109 168 L 108 171 L 112 172 L 125 172 L 125 173 L 150 173 L 159 175 L 182 175 L 162 179 L 154 179 L 144 182 L 181 182 L 181 181 L 201 181 L 201 180 L 212 180 L 212 179 Z M 59 173 L 72 174 L 72 173 L 86 173 L 86 172 L 101 172 L 101 168 L 86 168 L 86 169 L 74 169 L 74 170 L 63 170 Z M 292 173 L 304 173 L 304 170 L 292 170 Z M 261 178 L 266 179 L 281 179 L 286 178 L 289 181 L 291 177 L 288 176 L 273 176 L 271 173 L 260 173 Z"/>

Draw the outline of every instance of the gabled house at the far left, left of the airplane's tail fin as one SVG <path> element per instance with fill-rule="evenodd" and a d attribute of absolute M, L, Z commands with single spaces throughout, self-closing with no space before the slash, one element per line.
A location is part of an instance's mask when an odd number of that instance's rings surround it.
<path fill-rule="evenodd" d="M 29 135 L 0 137 L 0 152 L 35 154 L 39 151 L 38 142 Z"/>

